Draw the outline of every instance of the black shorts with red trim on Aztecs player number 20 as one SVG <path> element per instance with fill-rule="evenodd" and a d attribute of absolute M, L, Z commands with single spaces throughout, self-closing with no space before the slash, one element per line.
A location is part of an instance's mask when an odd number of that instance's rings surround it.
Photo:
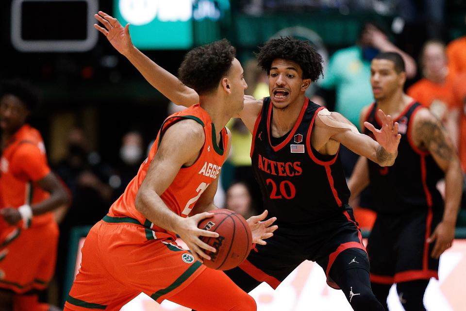
<path fill-rule="evenodd" d="M 267 245 L 256 245 L 247 260 L 227 271 L 227 275 L 238 285 L 245 283 L 241 278 L 250 278 L 252 282 L 265 281 L 275 289 L 301 262 L 310 260 L 322 267 L 327 283 L 339 289 L 336 281 L 343 271 L 351 268 L 369 271 L 366 248 L 352 209 L 347 205 L 342 211 L 311 226 L 278 224 L 279 229 L 266 240 Z"/>

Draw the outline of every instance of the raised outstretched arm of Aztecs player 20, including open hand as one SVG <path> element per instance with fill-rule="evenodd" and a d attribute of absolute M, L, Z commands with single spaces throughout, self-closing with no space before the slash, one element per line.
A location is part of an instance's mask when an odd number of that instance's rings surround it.
<path fill-rule="evenodd" d="M 130 24 L 123 27 L 116 18 L 99 11 L 94 17 L 104 27 L 94 24 L 94 28 L 103 33 L 112 46 L 143 75 L 143 77 L 166 98 L 177 105 L 185 107 L 199 102 L 198 94 L 184 85 L 177 77 L 155 64 L 149 57 L 134 47 L 130 36 Z"/>

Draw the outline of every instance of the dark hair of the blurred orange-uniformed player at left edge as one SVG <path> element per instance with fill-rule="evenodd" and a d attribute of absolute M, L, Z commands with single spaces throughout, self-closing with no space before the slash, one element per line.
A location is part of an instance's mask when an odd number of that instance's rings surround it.
<path fill-rule="evenodd" d="M 22 80 L 5 80 L 1 82 L 0 98 L 5 95 L 14 95 L 21 100 L 21 102 L 33 111 L 39 104 L 39 96 L 37 90 L 33 88 L 28 82 Z"/>

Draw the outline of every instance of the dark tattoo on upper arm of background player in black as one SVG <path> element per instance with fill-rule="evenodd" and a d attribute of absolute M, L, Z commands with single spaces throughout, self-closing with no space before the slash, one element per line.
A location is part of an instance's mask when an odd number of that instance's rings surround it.
<path fill-rule="evenodd" d="M 443 160 L 451 160 L 453 150 L 440 123 L 432 120 L 421 121 L 417 126 L 416 134 L 424 148 Z"/>

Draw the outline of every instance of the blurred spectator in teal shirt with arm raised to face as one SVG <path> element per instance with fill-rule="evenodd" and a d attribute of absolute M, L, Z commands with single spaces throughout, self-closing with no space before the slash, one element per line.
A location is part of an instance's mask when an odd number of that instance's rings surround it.
<path fill-rule="evenodd" d="M 374 101 L 370 86 L 370 62 L 380 51 L 398 52 L 406 64 L 409 78 L 416 75 L 416 62 L 408 54 L 393 45 L 382 29 L 372 22 L 366 23 L 358 36 L 356 45 L 337 50 L 320 81 L 321 90 L 313 98 L 318 104 L 325 103 L 325 91 L 336 91 L 334 111 L 344 115 L 360 127 L 361 109 Z M 361 130 L 361 129 L 360 129 Z M 347 176 L 350 176 L 358 156 L 341 146 L 340 155 Z"/>

